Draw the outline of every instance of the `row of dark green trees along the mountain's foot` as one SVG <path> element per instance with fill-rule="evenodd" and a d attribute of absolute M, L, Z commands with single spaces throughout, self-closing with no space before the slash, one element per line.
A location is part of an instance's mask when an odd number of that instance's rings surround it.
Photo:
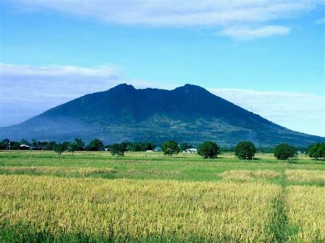
<path fill-rule="evenodd" d="M 61 155 L 64 152 L 73 151 L 110 151 L 112 155 L 123 156 L 126 151 L 152 151 L 156 148 L 156 144 L 154 142 L 121 142 L 115 144 L 107 144 L 95 138 L 91 140 L 88 144 L 81 138 L 75 138 L 73 142 L 42 142 L 37 140 L 32 140 L 29 142 L 25 139 L 21 140 L 21 142 L 10 141 L 8 139 L 4 139 L 0 142 L 0 149 L 34 149 L 34 150 L 53 150 Z M 180 153 L 180 151 L 186 151 L 187 149 L 194 148 L 191 144 L 187 144 L 186 142 L 182 142 L 180 145 L 176 141 L 169 140 L 164 142 L 161 145 L 161 151 L 165 155 L 171 157 L 172 155 Z M 197 153 L 201 155 L 204 159 L 213 159 L 216 158 L 217 155 L 221 151 L 233 151 L 234 155 L 239 159 L 254 159 L 254 155 L 257 151 L 265 152 L 265 153 L 274 153 L 274 157 L 277 159 L 295 159 L 298 156 L 298 151 L 305 152 L 309 157 L 315 159 L 325 159 L 325 143 L 320 142 L 317 144 L 313 144 L 309 146 L 307 149 L 296 148 L 290 144 L 278 144 L 274 148 L 266 148 L 266 149 L 257 149 L 256 146 L 252 142 L 239 142 L 233 148 L 220 148 L 220 146 L 213 141 L 206 141 L 197 146 Z"/>

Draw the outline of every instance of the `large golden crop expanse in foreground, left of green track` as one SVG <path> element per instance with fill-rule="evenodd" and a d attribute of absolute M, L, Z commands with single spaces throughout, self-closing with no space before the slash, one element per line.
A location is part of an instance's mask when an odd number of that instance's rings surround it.
<path fill-rule="evenodd" d="M 7 231 L 54 239 L 270 242 L 279 191 L 265 183 L 1 175 L 1 221 Z"/>

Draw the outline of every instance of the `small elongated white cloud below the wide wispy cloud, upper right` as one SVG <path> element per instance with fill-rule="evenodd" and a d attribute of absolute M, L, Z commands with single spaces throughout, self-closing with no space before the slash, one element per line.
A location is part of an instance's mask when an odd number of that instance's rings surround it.
<path fill-rule="evenodd" d="M 278 25 L 267 25 L 252 29 L 250 27 L 225 27 L 217 32 L 218 36 L 230 36 L 239 40 L 251 40 L 253 38 L 263 38 L 269 36 L 280 36 L 289 34 L 290 28 Z"/>

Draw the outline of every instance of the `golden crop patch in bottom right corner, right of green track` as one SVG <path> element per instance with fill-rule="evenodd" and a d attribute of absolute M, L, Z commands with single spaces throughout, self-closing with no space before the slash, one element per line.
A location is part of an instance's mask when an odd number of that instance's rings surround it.
<path fill-rule="evenodd" d="M 289 186 L 287 218 L 293 242 L 325 242 L 325 188 Z"/>

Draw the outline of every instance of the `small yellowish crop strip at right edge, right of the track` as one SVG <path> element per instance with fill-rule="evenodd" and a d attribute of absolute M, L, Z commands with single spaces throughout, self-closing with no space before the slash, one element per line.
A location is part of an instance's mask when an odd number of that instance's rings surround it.
<path fill-rule="evenodd" d="M 325 171 L 322 170 L 286 170 L 289 181 L 325 183 Z"/>

